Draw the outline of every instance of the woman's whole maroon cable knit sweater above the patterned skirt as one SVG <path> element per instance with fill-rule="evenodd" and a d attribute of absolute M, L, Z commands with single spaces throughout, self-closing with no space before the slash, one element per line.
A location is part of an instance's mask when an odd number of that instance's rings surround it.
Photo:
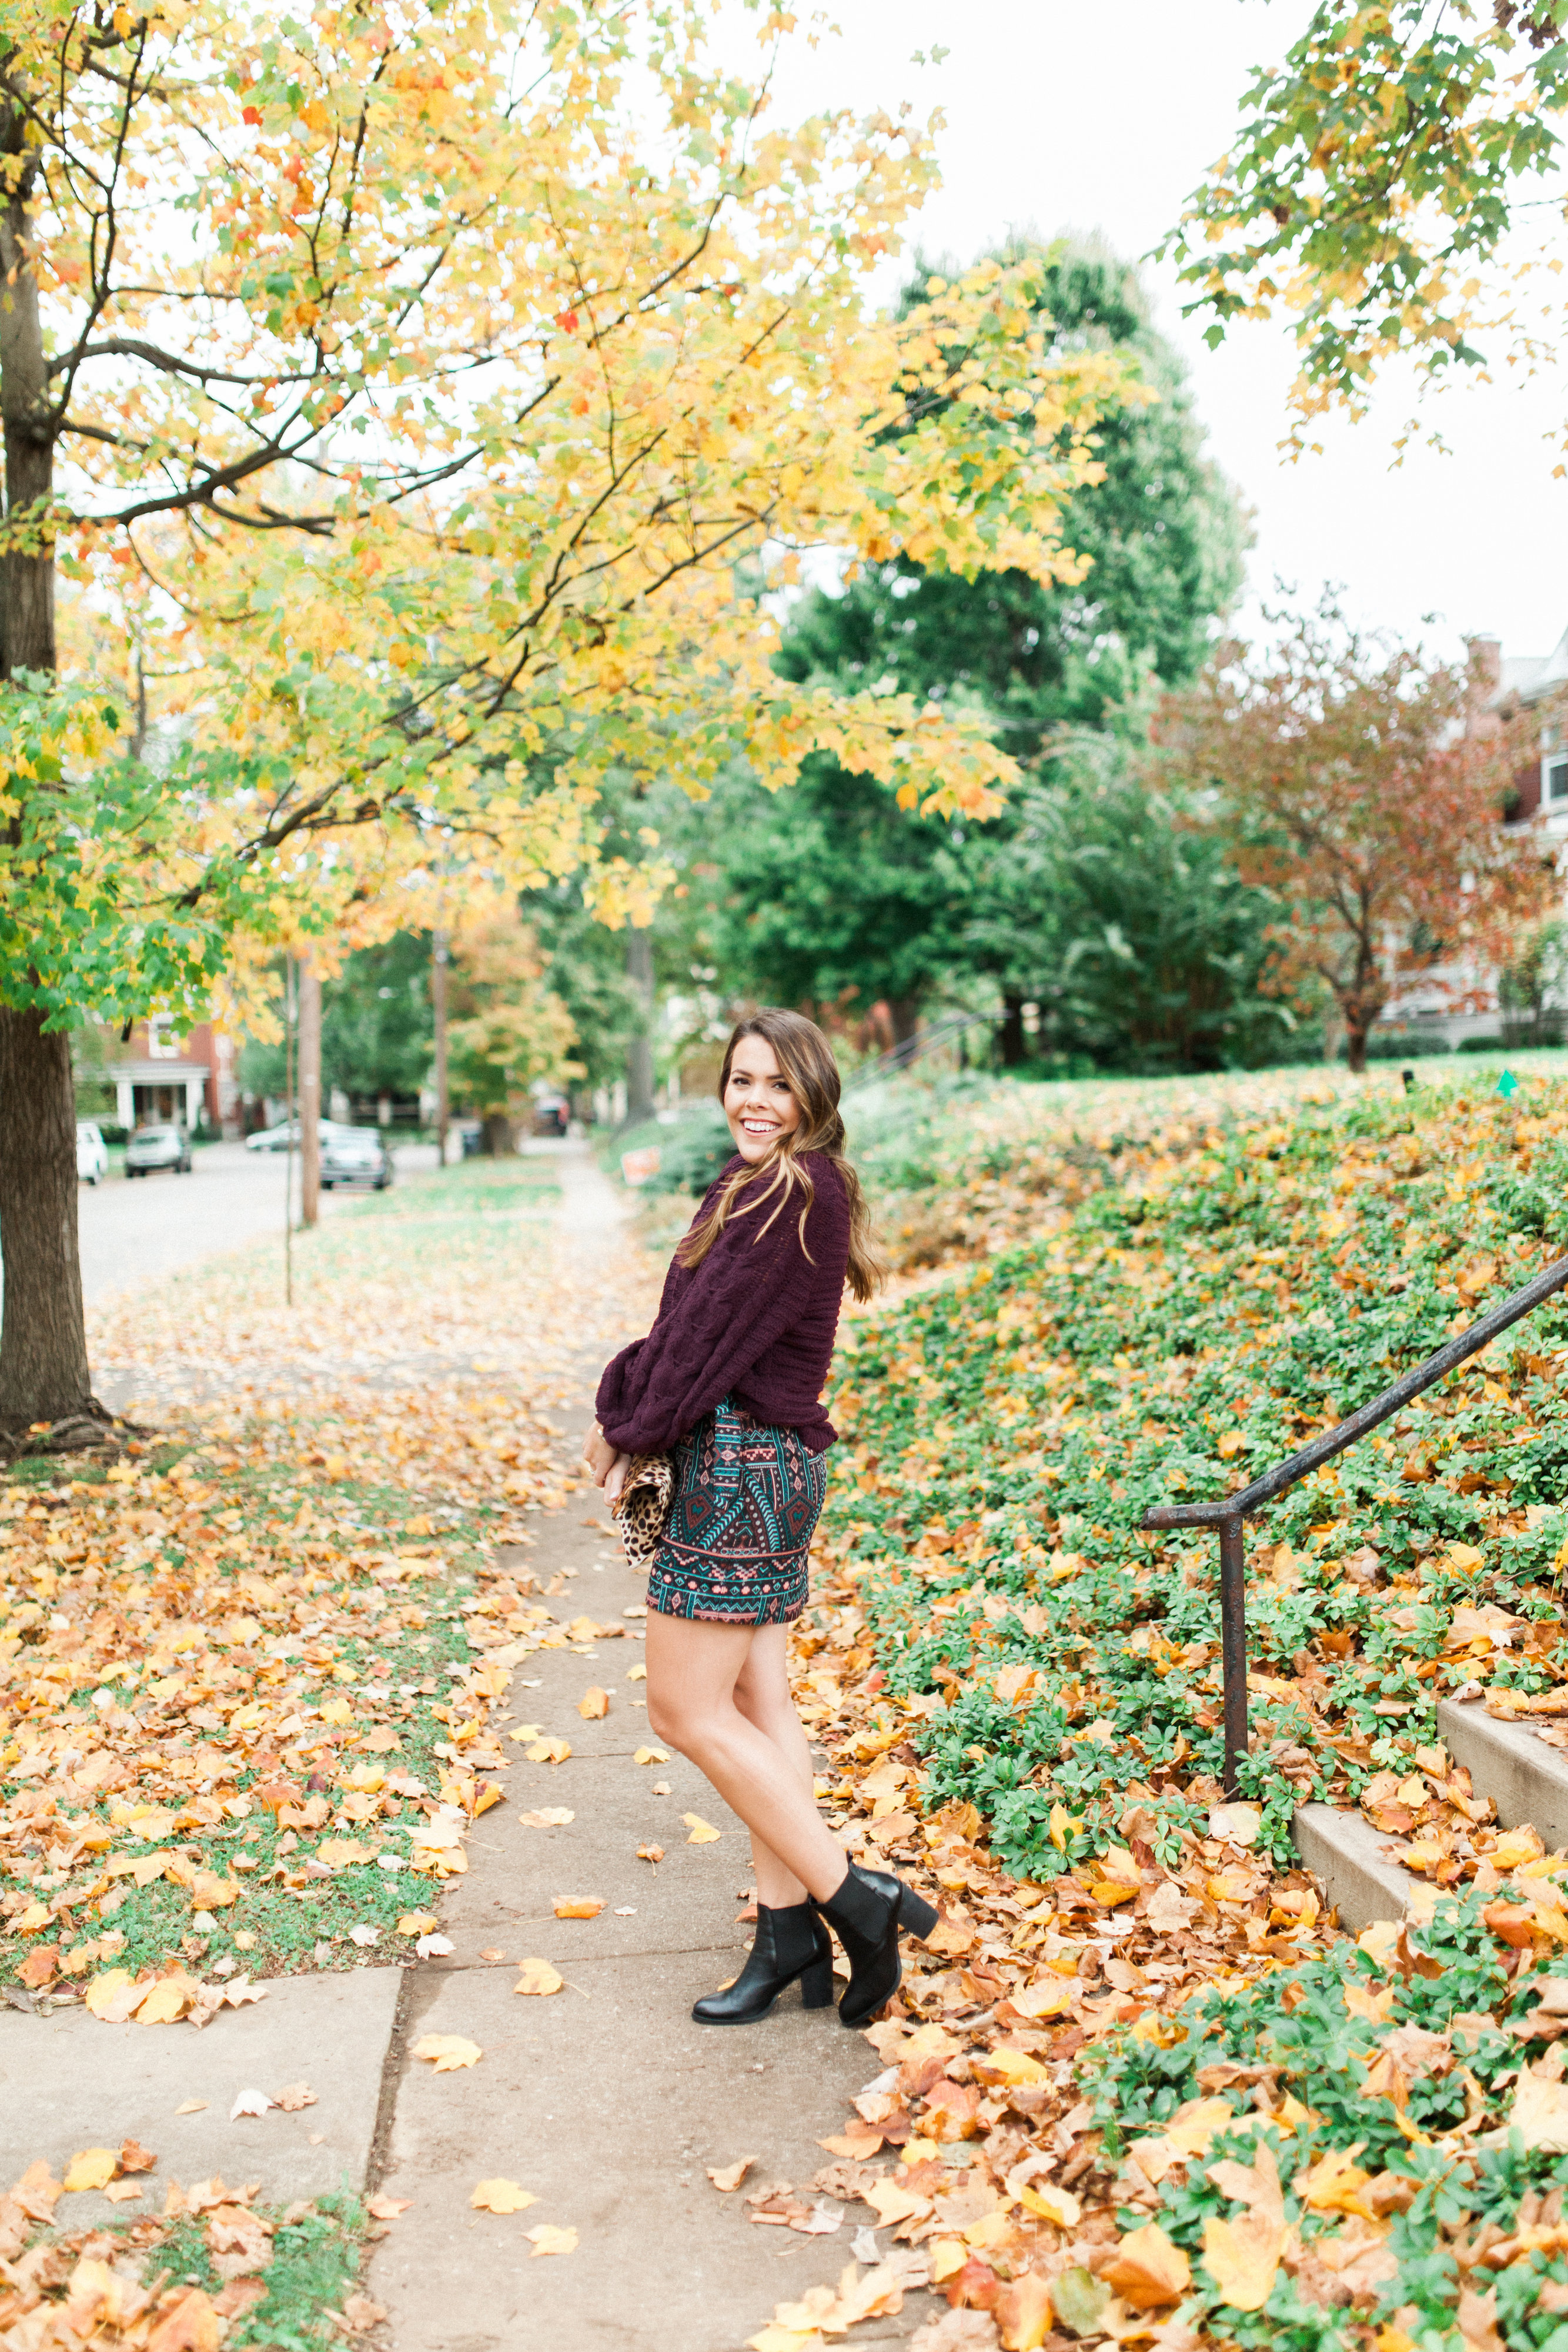
<path fill-rule="evenodd" d="M 776 1216 L 773 1202 L 731 1216 L 701 1265 L 670 1263 L 654 1329 L 604 1367 L 599 1428 L 621 1454 L 668 1454 L 722 1397 L 771 1428 L 799 1430 L 809 1454 L 832 1444 L 823 1383 L 849 1265 L 849 1195 L 832 1160 L 806 1152 L 804 1164 L 816 1185 L 811 1256 L 799 1240 L 799 1190 Z M 736 1155 L 693 1223 L 738 1167 Z"/>

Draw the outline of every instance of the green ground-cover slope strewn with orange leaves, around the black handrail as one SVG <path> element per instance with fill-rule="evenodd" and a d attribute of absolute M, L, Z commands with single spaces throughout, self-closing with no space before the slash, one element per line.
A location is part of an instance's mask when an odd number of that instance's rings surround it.
<path fill-rule="evenodd" d="M 1213 1536 L 1138 1531 L 1568 1247 L 1568 1103 L 1493 1084 L 1034 1110 L 959 1240 L 1001 1247 L 846 1334 L 802 1705 L 835 1818 L 945 1917 L 820 2185 L 924 2251 L 954 2312 L 922 2352 L 1568 2345 L 1568 1858 L 1434 1724 L 1467 1684 L 1568 1719 L 1568 1308 L 1251 1526 L 1237 1804 Z M 1333 1936 L 1307 1795 L 1410 1842 L 1425 1926 Z"/>

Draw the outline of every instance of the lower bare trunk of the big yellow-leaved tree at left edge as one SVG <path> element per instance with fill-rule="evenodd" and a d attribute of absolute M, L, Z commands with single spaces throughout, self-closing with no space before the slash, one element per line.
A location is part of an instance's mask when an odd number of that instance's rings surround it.
<path fill-rule="evenodd" d="M 0 1007 L 0 1428 L 103 1421 L 82 1329 L 71 1040 L 14 1004 Z"/>

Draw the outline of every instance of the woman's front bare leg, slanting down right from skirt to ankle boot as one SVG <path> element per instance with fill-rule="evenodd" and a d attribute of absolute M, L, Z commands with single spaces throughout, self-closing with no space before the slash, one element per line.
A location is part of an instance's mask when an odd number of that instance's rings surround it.
<path fill-rule="evenodd" d="M 769 1708 L 769 1722 L 776 1724 L 780 1722 L 783 1628 L 717 1625 L 703 1618 L 649 1611 L 649 1731 L 691 1757 L 719 1797 L 741 1816 L 752 1839 L 762 1842 L 752 1846 L 752 1853 L 759 1870 L 757 1893 L 759 1900 L 769 1903 L 769 1910 L 783 1905 L 762 1893 L 759 1853 L 764 1849 L 783 1872 L 780 1889 L 802 1886 L 825 1903 L 844 1884 L 849 1863 L 816 1811 L 811 1757 L 788 1686 L 783 1705 L 790 1710 L 795 1731 L 790 1740 L 785 1729 L 785 1743 L 759 1729 L 736 1703 L 759 1632 L 780 1637 L 771 1675 L 766 1644 L 762 1651 L 762 1693 L 771 1689 L 773 1696 L 759 1696 L 759 1705 Z"/>

